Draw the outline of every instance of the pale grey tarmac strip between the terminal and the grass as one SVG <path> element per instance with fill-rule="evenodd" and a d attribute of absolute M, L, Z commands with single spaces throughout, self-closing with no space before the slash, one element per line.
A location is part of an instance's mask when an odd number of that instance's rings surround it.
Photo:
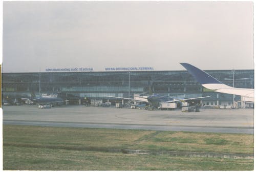
<path fill-rule="evenodd" d="M 147 111 L 67 105 L 3 106 L 3 124 L 253 134 L 253 109 Z"/>

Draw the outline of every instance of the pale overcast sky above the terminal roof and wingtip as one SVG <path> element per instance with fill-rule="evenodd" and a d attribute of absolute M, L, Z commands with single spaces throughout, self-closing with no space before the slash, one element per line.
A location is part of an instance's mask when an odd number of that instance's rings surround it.
<path fill-rule="evenodd" d="M 179 62 L 253 69 L 253 3 L 4 2 L 3 72 L 185 70 Z"/>

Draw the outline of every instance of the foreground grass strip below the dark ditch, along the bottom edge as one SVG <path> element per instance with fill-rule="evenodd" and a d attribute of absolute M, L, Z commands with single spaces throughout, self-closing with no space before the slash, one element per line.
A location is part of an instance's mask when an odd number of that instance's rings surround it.
<path fill-rule="evenodd" d="M 8 161 L 7 161 L 8 160 Z M 4 147 L 5 170 L 252 170 L 253 160 Z"/>

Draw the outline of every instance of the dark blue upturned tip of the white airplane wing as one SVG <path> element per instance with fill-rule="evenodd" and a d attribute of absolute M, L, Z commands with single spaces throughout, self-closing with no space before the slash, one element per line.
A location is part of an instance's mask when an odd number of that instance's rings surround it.
<path fill-rule="evenodd" d="M 220 81 L 218 81 L 217 79 L 215 79 L 214 77 L 210 76 L 209 74 L 207 74 L 206 72 L 188 64 L 188 63 L 180 63 L 184 68 L 186 68 L 186 70 L 188 71 L 188 73 L 190 73 L 191 75 L 193 75 L 196 80 L 201 83 L 201 84 L 207 84 L 207 83 L 222 83 Z"/>

